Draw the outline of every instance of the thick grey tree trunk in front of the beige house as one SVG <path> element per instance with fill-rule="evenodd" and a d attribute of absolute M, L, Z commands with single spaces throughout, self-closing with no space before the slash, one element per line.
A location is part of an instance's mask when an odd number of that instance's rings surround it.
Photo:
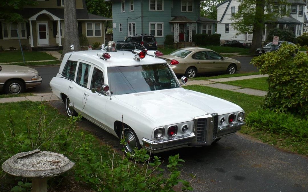
<path fill-rule="evenodd" d="M 60 61 L 65 53 L 72 51 L 71 45 L 74 45 L 74 51 L 80 50 L 75 0 L 64 1 L 64 24 L 64 46 Z"/>

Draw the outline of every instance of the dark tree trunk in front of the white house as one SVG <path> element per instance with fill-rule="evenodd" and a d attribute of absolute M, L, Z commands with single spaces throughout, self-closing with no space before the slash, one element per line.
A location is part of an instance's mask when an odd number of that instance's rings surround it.
<path fill-rule="evenodd" d="M 265 0 L 256 1 L 256 15 L 253 23 L 253 37 L 250 53 L 255 53 L 262 45 L 262 33 L 264 29 L 264 6 Z"/>

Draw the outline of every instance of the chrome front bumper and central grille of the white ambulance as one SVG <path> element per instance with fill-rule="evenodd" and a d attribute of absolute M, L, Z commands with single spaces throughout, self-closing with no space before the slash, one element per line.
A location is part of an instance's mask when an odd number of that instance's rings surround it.
<path fill-rule="evenodd" d="M 203 120 L 202 123 L 206 123 L 204 130 L 198 125 L 199 120 Z M 245 125 L 244 122 L 237 122 L 232 125 L 217 127 L 217 124 L 218 118 L 216 116 L 200 116 L 194 119 L 194 128 L 191 134 L 156 141 L 142 138 L 143 147 L 148 151 L 152 151 L 152 153 L 156 153 L 181 147 L 211 145 L 216 139 L 232 135 L 239 131 L 241 126 Z"/>

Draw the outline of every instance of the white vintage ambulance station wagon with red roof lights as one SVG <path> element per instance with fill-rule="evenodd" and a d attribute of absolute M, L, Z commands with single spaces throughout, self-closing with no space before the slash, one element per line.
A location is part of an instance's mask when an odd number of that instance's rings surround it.
<path fill-rule="evenodd" d="M 67 53 L 50 86 L 68 116 L 81 112 L 125 138 L 126 152 L 211 145 L 245 124 L 241 107 L 181 88 L 166 61 L 155 56 L 161 53 L 117 51 L 113 41 L 105 50 Z"/>

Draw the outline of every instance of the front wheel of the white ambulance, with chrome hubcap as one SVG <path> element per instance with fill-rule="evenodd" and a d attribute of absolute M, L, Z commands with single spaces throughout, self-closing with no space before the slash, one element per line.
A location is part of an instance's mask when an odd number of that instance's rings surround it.
<path fill-rule="evenodd" d="M 139 140 L 131 128 L 124 128 L 122 131 L 122 139 L 125 139 L 125 145 L 123 145 L 125 154 L 130 152 L 132 153 L 135 148 L 140 149 Z"/>

